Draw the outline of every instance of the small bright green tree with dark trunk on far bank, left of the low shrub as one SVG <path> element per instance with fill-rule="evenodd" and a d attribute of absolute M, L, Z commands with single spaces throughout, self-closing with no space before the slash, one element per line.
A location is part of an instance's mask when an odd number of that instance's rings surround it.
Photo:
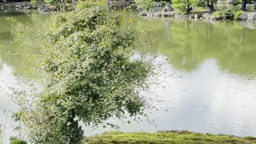
<path fill-rule="evenodd" d="M 189 13 L 190 7 L 196 6 L 199 2 L 199 0 L 173 0 L 171 6 L 173 9 Z"/>

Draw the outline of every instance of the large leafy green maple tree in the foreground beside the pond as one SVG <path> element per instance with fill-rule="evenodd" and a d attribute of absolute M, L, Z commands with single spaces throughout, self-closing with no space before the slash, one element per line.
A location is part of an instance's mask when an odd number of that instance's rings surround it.
<path fill-rule="evenodd" d="M 108 11 L 104 1 L 86 1 L 43 27 L 38 59 L 44 89 L 29 102 L 28 93 L 15 93 L 32 143 L 81 143 L 80 121 L 98 126 L 111 117 L 144 114 L 139 93 L 148 89 L 152 68 L 123 52 L 137 38 L 129 21 Z"/>

